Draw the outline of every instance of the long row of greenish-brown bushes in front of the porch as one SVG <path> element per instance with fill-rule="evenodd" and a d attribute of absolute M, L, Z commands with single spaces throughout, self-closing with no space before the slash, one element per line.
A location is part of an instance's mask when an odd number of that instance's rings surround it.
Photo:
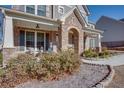
<path fill-rule="evenodd" d="M 27 76 L 38 80 L 58 79 L 60 75 L 72 74 L 80 66 L 79 56 L 72 50 L 59 53 L 43 53 L 36 57 L 29 54 L 19 54 L 9 60 L 7 65 L 8 77 Z M 9 74 L 11 73 L 11 74 Z"/>

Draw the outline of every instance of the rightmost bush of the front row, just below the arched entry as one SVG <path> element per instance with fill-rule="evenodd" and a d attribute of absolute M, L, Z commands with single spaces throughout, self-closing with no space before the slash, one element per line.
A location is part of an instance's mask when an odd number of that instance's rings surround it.
<path fill-rule="evenodd" d="M 79 56 L 73 50 L 65 50 L 59 53 L 59 60 L 61 70 L 70 74 L 80 65 Z"/>

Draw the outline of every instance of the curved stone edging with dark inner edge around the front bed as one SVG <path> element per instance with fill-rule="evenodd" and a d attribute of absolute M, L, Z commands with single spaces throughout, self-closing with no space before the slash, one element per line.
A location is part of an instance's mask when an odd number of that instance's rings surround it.
<path fill-rule="evenodd" d="M 112 81 L 115 75 L 115 70 L 110 65 L 100 65 L 100 64 L 92 64 L 92 63 L 85 63 L 85 62 L 84 64 L 90 64 L 95 66 L 107 66 L 109 70 L 108 74 L 105 77 L 103 77 L 103 79 L 101 79 L 99 82 L 91 86 L 91 88 L 104 88 L 105 86 L 108 86 L 108 84 Z"/>

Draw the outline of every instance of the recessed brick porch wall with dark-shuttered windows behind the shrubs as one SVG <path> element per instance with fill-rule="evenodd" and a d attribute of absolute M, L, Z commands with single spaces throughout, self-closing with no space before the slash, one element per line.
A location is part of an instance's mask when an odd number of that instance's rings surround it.
<path fill-rule="evenodd" d="M 14 47 L 16 51 L 57 52 L 58 34 L 58 31 L 14 27 Z"/>

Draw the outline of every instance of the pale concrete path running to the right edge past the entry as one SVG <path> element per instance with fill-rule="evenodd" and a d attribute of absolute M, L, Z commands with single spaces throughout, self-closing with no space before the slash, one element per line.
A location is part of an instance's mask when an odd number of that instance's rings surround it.
<path fill-rule="evenodd" d="M 82 59 L 83 62 L 92 63 L 92 64 L 104 64 L 104 65 L 111 65 L 111 66 L 120 66 L 124 65 L 124 54 L 112 56 L 108 59 L 96 59 L 96 60 L 85 60 Z"/>

